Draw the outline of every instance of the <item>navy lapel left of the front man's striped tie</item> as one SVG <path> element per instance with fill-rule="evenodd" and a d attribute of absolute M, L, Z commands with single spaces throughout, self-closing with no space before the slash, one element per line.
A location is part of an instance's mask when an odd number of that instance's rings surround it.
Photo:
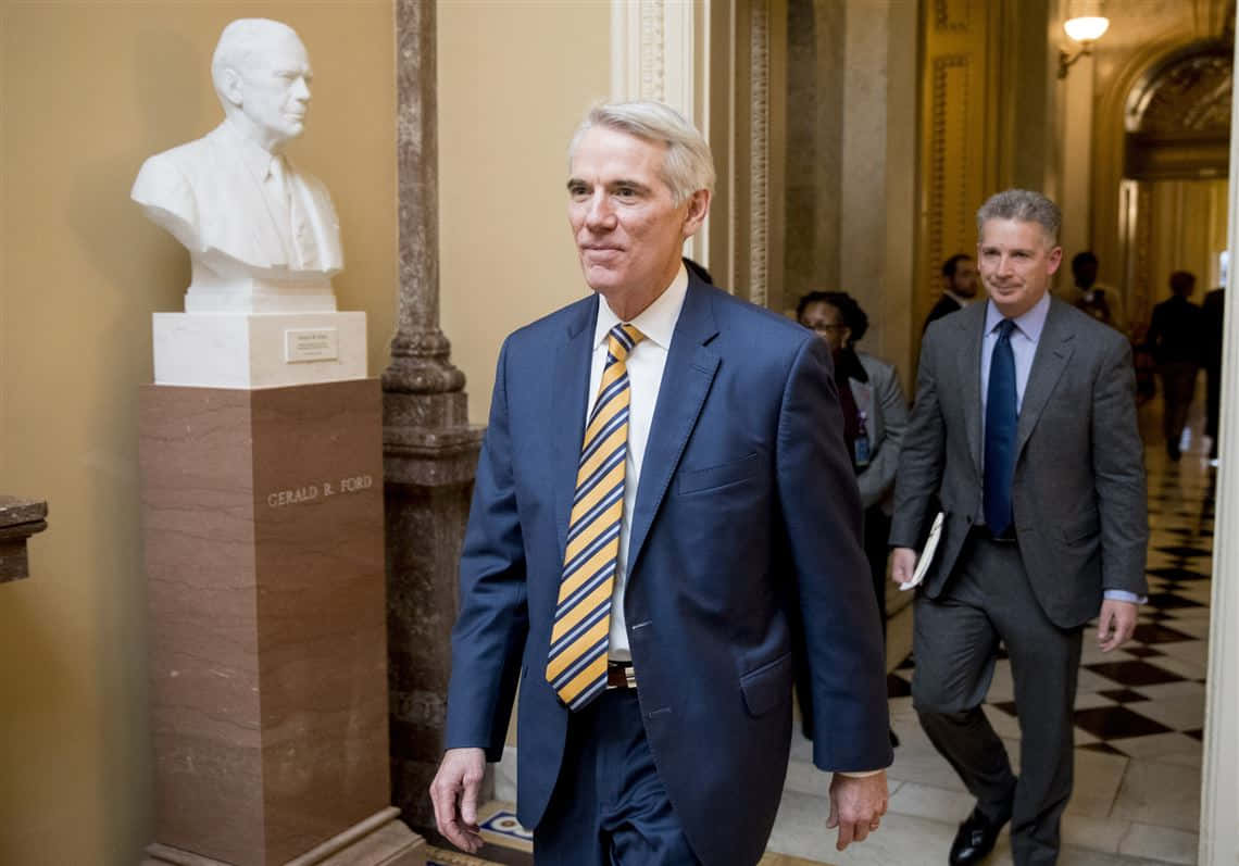
<path fill-rule="evenodd" d="M 576 470 L 581 462 L 585 436 L 585 408 L 590 390 L 590 365 L 593 353 L 593 327 L 597 321 L 597 296 L 586 299 L 567 326 L 567 335 L 555 351 L 555 391 L 551 396 L 551 483 L 555 489 L 555 530 L 559 560 L 564 561 L 567 520 L 576 496 Z"/>

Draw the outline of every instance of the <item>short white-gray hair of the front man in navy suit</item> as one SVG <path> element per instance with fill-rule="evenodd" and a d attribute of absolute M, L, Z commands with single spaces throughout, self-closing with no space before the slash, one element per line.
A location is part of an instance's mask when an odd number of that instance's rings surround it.
<path fill-rule="evenodd" d="M 595 126 L 665 145 L 667 157 L 660 173 L 676 204 L 686 202 L 698 190 L 714 190 L 714 154 L 710 152 L 710 145 L 674 108 L 658 102 L 595 105 L 576 128 L 567 146 L 569 171 L 572 170 L 577 145 Z"/>

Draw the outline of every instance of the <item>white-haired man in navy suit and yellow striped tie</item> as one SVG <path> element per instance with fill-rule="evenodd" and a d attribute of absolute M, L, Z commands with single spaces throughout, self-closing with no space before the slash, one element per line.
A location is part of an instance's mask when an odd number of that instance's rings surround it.
<path fill-rule="evenodd" d="M 539 866 L 751 866 L 778 808 L 803 624 L 828 825 L 886 809 L 882 638 L 829 347 L 681 263 L 709 145 L 658 103 L 570 149 L 590 296 L 504 342 L 461 556 L 440 831 L 518 688 L 518 818 Z"/>

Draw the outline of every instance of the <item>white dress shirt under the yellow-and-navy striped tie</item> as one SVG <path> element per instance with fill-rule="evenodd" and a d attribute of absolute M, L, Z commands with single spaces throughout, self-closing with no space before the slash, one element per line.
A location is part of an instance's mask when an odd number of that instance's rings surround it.
<path fill-rule="evenodd" d="M 646 442 L 649 440 L 649 425 L 654 420 L 654 406 L 658 404 L 658 389 L 663 384 L 663 369 L 667 367 L 667 351 L 672 347 L 672 335 L 680 318 L 684 295 L 688 292 L 689 275 L 684 265 L 675 274 L 672 285 L 654 302 L 641 311 L 629 325 L 646 338 L 628 353 L 628 458 L 624 463 L 623 517 L 620 523 L 620 559 L 616 562 L 615 591 L 611 595 L 611 648 L 608 655 L 613 662 L 627 662 L 632 658 L 628 650 L 628 631 L 623 618 L 623 592 L 628 581 L 628 539 L 632 535 L 632 512 L 637 504 L 637 487 L 641 483 L 641 465 L 646 456 Z M 607 332 L 621 320 L 607 302 L 598 297 L 598 321 L 593 327 L 593 356 L 590 362 L 590 401 L 585 420 L 589 424 L 590 413 L 598 399 L 598 384 L 607 363 Z"/>

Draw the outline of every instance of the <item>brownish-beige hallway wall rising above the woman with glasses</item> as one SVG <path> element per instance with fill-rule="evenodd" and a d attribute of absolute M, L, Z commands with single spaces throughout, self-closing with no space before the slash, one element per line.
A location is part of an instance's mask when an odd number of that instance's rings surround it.
<path fill-rule="evenodd" d="M 849 292 L 870 317 L 861 348 L 906 378 L 917 16 L 908 0 L 788 4 L 784 291 L 771 299 L 790 311 L 810 290 Z"/>

